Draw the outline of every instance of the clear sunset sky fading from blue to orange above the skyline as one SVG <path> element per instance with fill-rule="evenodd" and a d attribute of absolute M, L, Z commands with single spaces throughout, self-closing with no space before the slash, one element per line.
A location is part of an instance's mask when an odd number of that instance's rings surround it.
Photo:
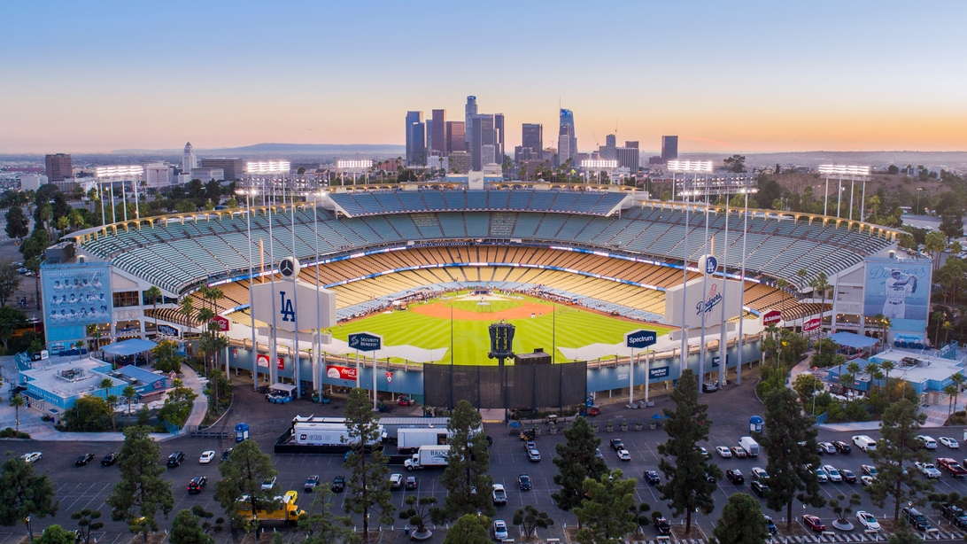
<path fill-rule="evenodd" d="M 404 141 L 467 95 L 579 147 L 967 150 L 967 3 L 2 2 L 0 153 Z"/>

